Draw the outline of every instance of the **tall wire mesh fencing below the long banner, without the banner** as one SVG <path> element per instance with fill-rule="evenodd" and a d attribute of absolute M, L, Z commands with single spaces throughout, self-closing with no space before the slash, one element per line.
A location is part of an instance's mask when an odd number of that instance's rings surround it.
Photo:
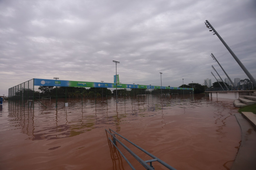
<path fill-rule="evenodd" d="M 36 104 L 44 105 L 47 102 L 55 103 L 57 107 L 58 101 L 66 103 L 69 99 L 83 98 L 117 98 L 134 97 L 138 95 L 159 95 L 159 97 L 170 97 L 171 95 L 193 94 L 193 90 L 182 89 L 126 89 L 126 88 L 100 88 L 100 87 L 66 87 L 66 86 L 38 86 L 34 85 L 35 79 L 31 79 L 9 89 L 10 106 L 33 108 Z"/>

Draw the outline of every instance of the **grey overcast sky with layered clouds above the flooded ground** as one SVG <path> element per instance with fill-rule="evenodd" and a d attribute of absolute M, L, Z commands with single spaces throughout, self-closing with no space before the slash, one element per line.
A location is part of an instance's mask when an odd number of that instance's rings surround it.
<path fill-rule="evenodd" d="M 0 0 L 0 95 L 32 78 L 179 87 L 256 78 L 255 0 Z M 218 77 L 219 78 L 219 77 Z"/>

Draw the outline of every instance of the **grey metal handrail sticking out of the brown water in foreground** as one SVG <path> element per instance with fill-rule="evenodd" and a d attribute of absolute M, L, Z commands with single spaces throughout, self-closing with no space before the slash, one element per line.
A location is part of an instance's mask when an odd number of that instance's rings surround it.
<path fill-rule="evenodd" d="M 168 165 L 167 163 L 165 163 L 164 161 L 160 160 L 159 158 L 157 158 L 156 156 L 152 155 L 151 153 L 147 152 L 146 150 L 142 149 L 141 147 L 139 147 L 138 145 L 132 143 L 131 141 L 129 141 L 128 139 L 124 138 L 123 136 L 121 136 L 120 134 L 118 134 L 117 132 L 115 132 L 112 129 L 105 129 L 106 132 L 108 132 L 113 140 L 111 138 L 108 137 L 109 141 L 117 148 L 118 152 L 122 155 L 122 157 L 124 158 L 124 160 L 130 165 L 130 167 L 135 170 L 135 168 L 133 167 L 133 165 L 128 161 L 128 159 L 123 155 L 123 153 L 120 151 L 120 149 L 117 147 L 117 142 L 123 146 L 137 161 L 139 161 L 139 163 L 141 165 L 144 166 L 144 168 L 148 169 L 148 170 L 154 170 L 155 168 L 152 165 L 152 162 L 154 161 L 158 161 L 159 163 L 161 163 L 162 165 L 164 165 L 166 168 L 171 169 L 171 170 L 176 170 L 175 168 L 173 168 L 172 166 Z M 112 133 L 114 132 L 114 133 Z M 138 149 L 140 149 L 142 152 L 144 152 L 145 154 L 147 154 L 148 156 L 150 156 L 152 159 L 151 160 L 142 160 L 138 155 L 136 155 L 131 149 L 129 149 L 125 144 L 123 144 L 120 140 L 117 139 L 116 135 L 118 135 L 119 137 L 121 137 L 122 139 L 126 140 L 127 142 L 129 142 L 130 144 L 133 144 L 135 147 L 137 147 Z M 147 163 L 150 163 L 147 164 Z"/>

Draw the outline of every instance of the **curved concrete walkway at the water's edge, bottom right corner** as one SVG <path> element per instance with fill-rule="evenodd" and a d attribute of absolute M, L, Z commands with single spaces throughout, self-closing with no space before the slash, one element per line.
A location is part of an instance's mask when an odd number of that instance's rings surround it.
<path fill-rule="evenodd" d="M 256 169 L 256 115 L 251 112 L 235 114 L 241 127 L 242 142 L 230 170 Z M 246 120 L 247 119 L 247 120 Z"/>

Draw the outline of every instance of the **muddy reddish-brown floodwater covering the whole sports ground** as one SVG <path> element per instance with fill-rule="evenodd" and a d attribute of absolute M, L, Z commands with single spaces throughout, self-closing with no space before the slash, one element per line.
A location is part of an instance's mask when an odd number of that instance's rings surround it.
<path fill-rule="evenodd" d="M 0 169 L 131 169 L 108 142 L 111 128 L 177 170 L 228 170 L 241 143 L 233 100 L 204 94 L 64 100 L 34 110 L 0 106 Z M 110 135 L 108 135 L 110 137 Z M 125 143 L 127 144 L 127 143 Z M 138 161 L 117 144 L 136 169 Z M 127 144 L 131 147 L 131 145 Z M 150 159 L 131 147 L 143 160 Z M 156 170 L 166 169 L 153 162 Z"/>

